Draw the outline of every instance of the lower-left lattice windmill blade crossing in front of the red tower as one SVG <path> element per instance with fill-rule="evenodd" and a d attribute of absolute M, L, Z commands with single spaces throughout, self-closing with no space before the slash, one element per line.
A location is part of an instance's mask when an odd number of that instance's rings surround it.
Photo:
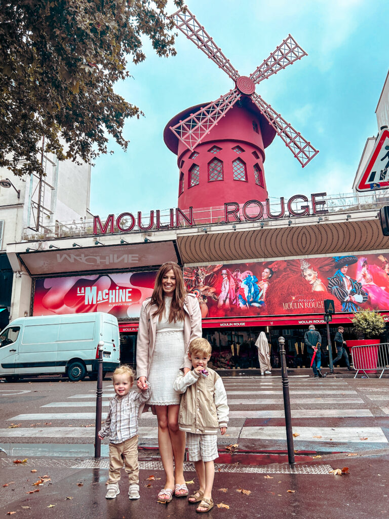
<path fill-rule="evenodd" d="M 170 129 L 185 146 L 193 149 L 217 125 L 221 117 L 226 115 L 240 97 L 241 93 L 239 90 L 230 90 L 227 94 L 221 95 L 216 101 L 207 104 L 204 108 L 200 108 L 195 114 L 190 114 L 183 121 L 179 121 L 175 126 L 171 126 Z"/>

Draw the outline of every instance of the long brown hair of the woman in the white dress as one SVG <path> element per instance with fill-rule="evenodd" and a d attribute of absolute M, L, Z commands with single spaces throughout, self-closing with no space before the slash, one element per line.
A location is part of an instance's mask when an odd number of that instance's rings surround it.
<path fill-rule="evenodd" d="M 176 288 L 173 292 L 172 303 L 170 305 L 169 322 L 184 321 L 184 299 L 186 296 L 184 277 L 182 270 L 174 262 L 164 263 L 158 270 L 154 291 L 151 295 L 151 304 L 157 306 L 153 317 L 158 316 L 159 320 L 161 320 L 163 312 L 165 311 L 165 295 L 162 288 L 162 279 L 169 270 L 173 270 L 176 278 Z"/>

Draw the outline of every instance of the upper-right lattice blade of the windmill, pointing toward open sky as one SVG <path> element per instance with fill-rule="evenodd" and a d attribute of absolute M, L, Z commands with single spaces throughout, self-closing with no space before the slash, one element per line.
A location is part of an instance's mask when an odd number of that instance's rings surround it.
<path fill-rule="evenodd" d="M 285 38 L 281 45 L 279 45 L 274 52 L 272 52 L 266 60 L 250 75 L 250 79 L 258 84 L 262 79 L 267 79 L 279 70 L 285 69 L 286 66 L 291 65 L 297 60 L 301 60 L 304 56 L 308 56 L 307 52 L 303 50 L 290 36 Z"/>

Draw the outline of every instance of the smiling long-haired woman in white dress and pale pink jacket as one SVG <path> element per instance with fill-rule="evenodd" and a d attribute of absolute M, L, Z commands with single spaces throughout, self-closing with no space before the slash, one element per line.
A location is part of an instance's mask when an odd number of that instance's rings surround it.
<path fill-rule="evenodd" d="M 180 368 L 184 367 L 185 373 L 190 371 L 189 343 L 199 337 L 199 302 L 194 294 L 186 294 L 179 266 L 164 263 L 158 270 L 151 298 L 142 305 L 136 344 L 137 386 L 145 387 L 149 381 L 149 404 L 155 406 L 158 420 L 158 446 L 166 475 L 158 494 L 160 502 L 170 502 L 173 489 L 176 497 L 188 495 L 184 479 L 185 432 L 178 429 L 179 395 L 173 383 Z"/>

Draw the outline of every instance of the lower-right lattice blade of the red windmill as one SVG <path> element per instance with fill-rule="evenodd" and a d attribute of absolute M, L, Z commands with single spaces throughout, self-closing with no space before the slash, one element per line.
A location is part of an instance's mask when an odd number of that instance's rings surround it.
<path fill-rule="evenodd" d="M 314 148 L 310 142 L 305 140 L 289 122 L 286 122 L 279 113 L 273 110 L 270 104 L 263 101 L 260 95 L 254 92 L 251 95 L 251 99 L 253 103 L 258 106 L 261 114 L 267 118 L 269 124 L 274 128 L 277 134 L 280 135 L 281 139 L 300 162 L 301 166 L 307 166 L 308 162 L 319 153 L 318 149 Z"/>

